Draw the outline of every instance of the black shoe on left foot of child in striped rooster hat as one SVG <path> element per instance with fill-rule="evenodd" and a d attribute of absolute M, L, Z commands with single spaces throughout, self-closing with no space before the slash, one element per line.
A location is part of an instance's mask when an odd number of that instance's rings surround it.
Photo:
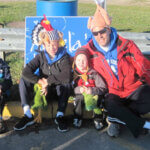
<path fill-rule="evenodd" d="M 26 115 L 24 115 L 21 120 L 15 125 L 14 130 L 23 130 L 27 126 L 30 126 L 34 124 L 34 118 L 28 118 Z"/>

